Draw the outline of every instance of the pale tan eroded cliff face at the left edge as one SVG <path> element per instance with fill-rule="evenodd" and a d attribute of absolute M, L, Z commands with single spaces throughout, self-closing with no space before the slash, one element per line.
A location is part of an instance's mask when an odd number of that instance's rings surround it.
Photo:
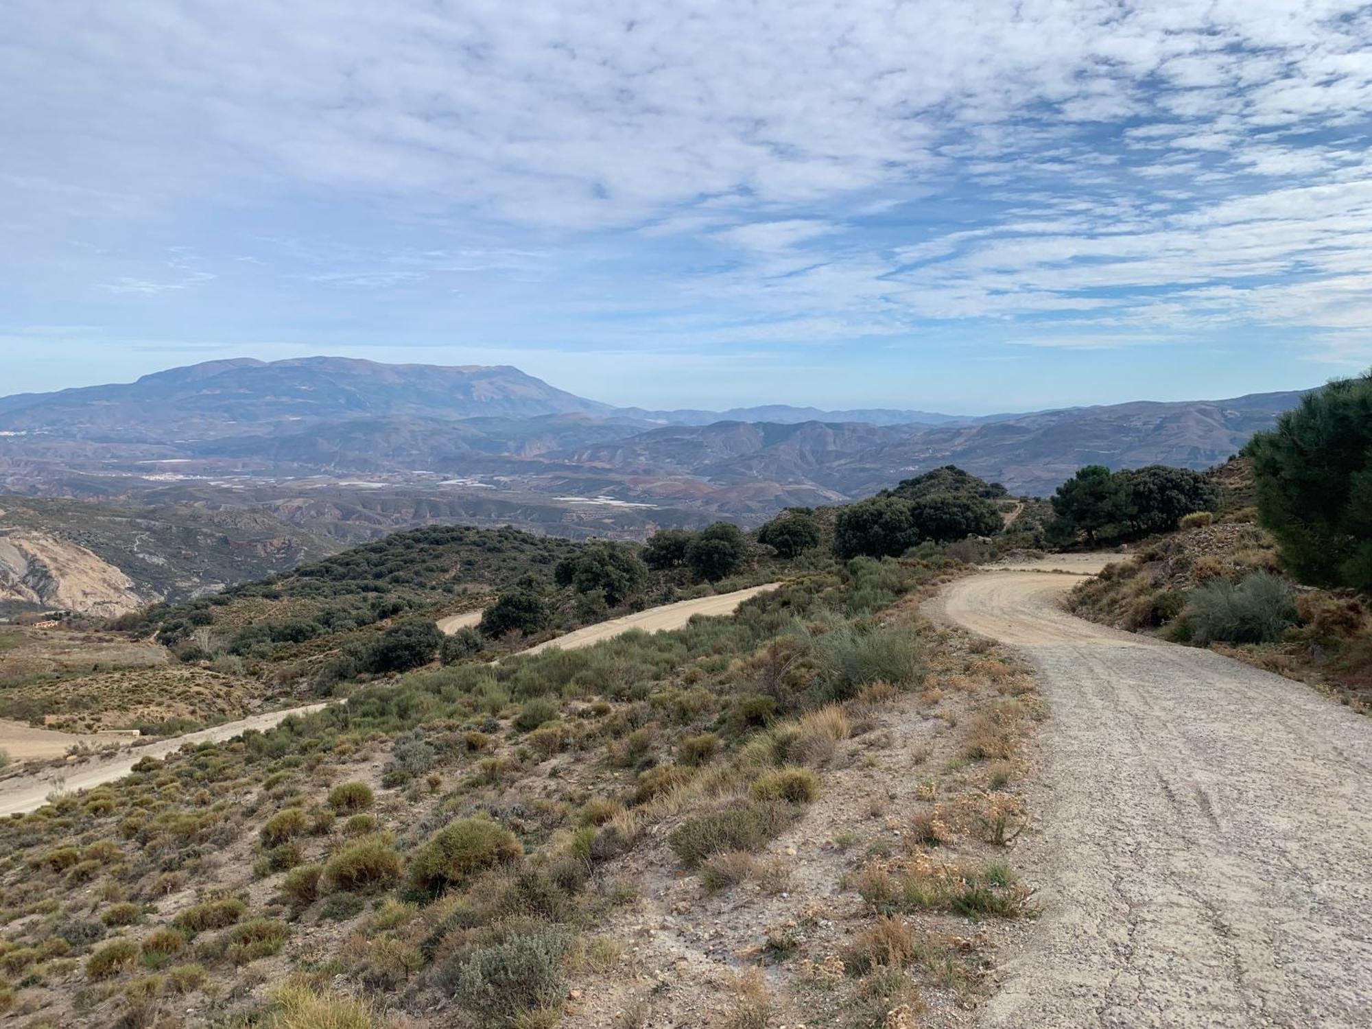
<path fill-rule="evenodd" d="M 0 535 L 0 602 L 113 616 L 151 600 L 84 546 L 27 530 Z"/>

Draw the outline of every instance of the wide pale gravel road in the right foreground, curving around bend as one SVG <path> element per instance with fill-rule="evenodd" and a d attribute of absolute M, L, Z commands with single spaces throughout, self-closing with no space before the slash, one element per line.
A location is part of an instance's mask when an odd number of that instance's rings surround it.
<path fill-rule="evenodd" d="M 988 571 L 936 601 L 1017 646 L 1052 709 L 1015 855 L 1044 914 L 984 1025 L 1372 1025 L 1372 720 L 1072 617 L 1076 580 Z"/>

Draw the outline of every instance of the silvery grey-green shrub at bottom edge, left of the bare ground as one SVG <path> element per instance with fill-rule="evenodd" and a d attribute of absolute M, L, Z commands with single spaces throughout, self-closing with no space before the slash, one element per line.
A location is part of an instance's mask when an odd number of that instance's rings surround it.
<path fill-rule="evenodd" d="M 516 1026 L 528 1013 L 563 1000 L 571 948 L 561 926 L 512 919 L 458 949 L 439 970 L 439 981 L 482 1025 Z"/>

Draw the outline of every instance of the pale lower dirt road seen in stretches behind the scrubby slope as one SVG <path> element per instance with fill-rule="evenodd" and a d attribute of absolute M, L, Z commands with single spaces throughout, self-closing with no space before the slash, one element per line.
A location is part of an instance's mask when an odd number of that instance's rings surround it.
<path fill-rule="evenodd" d="M 564 650 L 578 650 L 583 646 L 598 643 L 602 639 L 612 639 L 613 637 L 627 632 L 631 628 L 641 628 L 645 632 L 682 628 L 687 622 L 690 622 L 693 615 L 731 615 L 744 601 L 756 597 L 759 593 L 774 590 L 778 584 L 779 583 L 768 583 L 767 586 L 753 586 L 748 590 L 737 590 L 734 593 L 724 593 L 716 597 L 700 597 L 697 600 L 665 604 L 660 608 L 641 611 L 637 615 L 627 615 L 624 617 L 611 619 L 609 622 L 601 622 L 595 626 L 579 628 L 575 632 L 568 632 L 564 637 L 557 637 L 546 643 L 532 646 L 523 653 L 532 654 L 550 646 L 557 646 Z M 482 613 L 479 611 L 466 612 L 465 615 L 454 615 L 445 619 L 445 622 L 450 623 L 450 627 L 443 631 L 453 632 L 460 628 L 461 619 L 471 619 L 466 624 L 476 624 L 480 617 Z M 63 792 L 75 792 L 100 786 L 106 782 L 114 782 L 115 779 L 122 779 L 129 774 L 133 766 L 144 757 L 166 757 L 169 753 L 180 750 L 187 744 L 232 740 L 250 729 L 270 729 L 291 715 L 307 715 L 322 707 L 325 705 L 306 704 L 305 707 L 289 708 L 285 711 L 269 711 L 262 715 L 252 715 L 250 718 L 240 719 L 237 722 L 225 722 L 222 726 L 203 729 L 198 733 L 188 733 L 170 740 L 162 740 L 156 744 L 148 744 L 147 746 L 134 746 L 110 757 L 95 757 L 69 768 L 59 768 L 56 771 L 45 771 L 33 775 L 19 775 L 7 779 L 0 782 L 0 818 L 36 811 L 43 807 L 47 803 L 48 796 L 58 789 Z"/>

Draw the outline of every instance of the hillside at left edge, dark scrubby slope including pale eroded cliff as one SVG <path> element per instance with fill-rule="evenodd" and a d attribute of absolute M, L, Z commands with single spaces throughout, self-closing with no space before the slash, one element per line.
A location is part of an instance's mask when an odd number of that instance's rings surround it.
<path fill-rule="evenodd" d="M 215 593 L 338 549 L 252 510 L 0 495 L 0 613 L 118 615 Z"/>

